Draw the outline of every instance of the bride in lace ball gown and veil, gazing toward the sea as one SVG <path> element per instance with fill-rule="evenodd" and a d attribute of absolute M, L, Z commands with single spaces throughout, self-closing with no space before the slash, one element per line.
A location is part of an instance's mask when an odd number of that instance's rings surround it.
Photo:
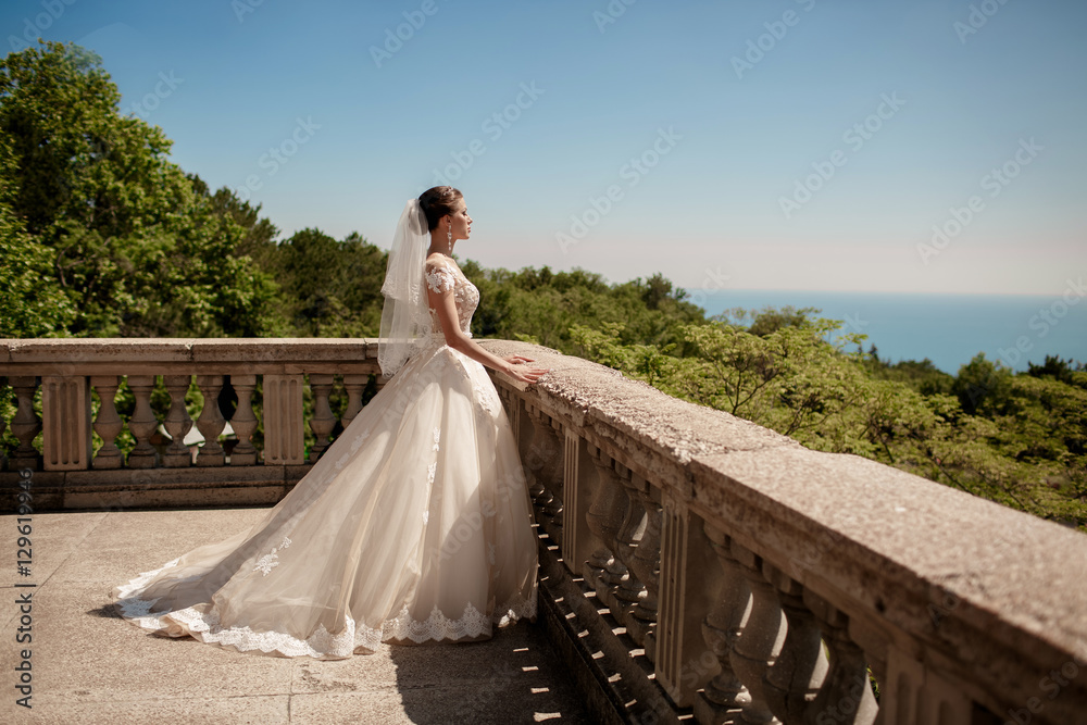
<path fill-rule="evenodd" d="M 529 384 L 547 371 L 471 339 L 479 292 L 451 257 L 471 226 L 452 187 L 408 202 L 382 288 L 378 362 L 396 375 L 252 528 L 116 587 L 124 618 L 330 660 L 535 617 L 532 507 L 484 365 Z"/>

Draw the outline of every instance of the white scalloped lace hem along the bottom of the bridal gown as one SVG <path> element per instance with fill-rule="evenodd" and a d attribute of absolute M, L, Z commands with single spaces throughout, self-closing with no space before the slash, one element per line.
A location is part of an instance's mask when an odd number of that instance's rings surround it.
<path fill-rule="evenodd" d="M 391 620 L 386 620 L 380 630 L 357 623 L 350 616 L 343 617 L 343 627 L 338 634 L 328 632 L 324 625 L 305 639 L 299 639 L 282 632 L 254 630 L 249 627 L 223 628 L 218 613 L 213 609 L 202 612 L 189 607 L 174 612 L 151 614 L 158 599 L 143 600 L 138 595 L 160 572 L 177 565 L 179 559 L 167 562 L 153 572 L 145 572 L 127 585 L 118 587 L 116 607 L 121 615 L 145 629 L 164 632 L 170 636 L 192 635 L 204 642 L 233 647 L 239 652 L 260 650 L 265 654 L 278 652 L 286 657 L 309 655 L 312 658 L 349 658 L 358 648 L 374 651 L 389 639 L 424 642 L 428 640 L 458 640 L 465 637 L 489 635 L 492 625 L 504 627 L 522 617 L 536 616 L 536 598 L 525 599 L 516 595 L 487 616 L 472 602 L 464 607 L 464 613 L 450 620 L 437 607 L 423 621 L 413 620 L 405 604 Z M 180 628 L 180 630 L 178 630 Z"/>

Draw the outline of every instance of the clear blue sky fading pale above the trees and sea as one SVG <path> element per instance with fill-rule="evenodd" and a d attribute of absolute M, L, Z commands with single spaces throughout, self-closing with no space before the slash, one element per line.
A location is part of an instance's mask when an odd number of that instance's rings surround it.
<path fill-rule="evenodd" d="M 629 4 L 627 4 L 629 2 Z M 1087 273 L 1087 3 L 7 0 L 284 236 L 691 288 L 1060 293 Z M 399 37 L 398 37 L 399 35 Z M 939 233 L 939 234 L 937 234 Z"/>

